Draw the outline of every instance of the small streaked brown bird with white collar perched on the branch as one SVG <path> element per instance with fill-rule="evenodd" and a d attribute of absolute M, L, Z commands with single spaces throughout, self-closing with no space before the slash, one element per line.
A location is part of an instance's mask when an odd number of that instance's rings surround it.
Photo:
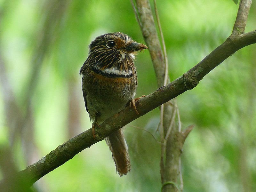
<path fill-rule="evenodd" d="M 124 109 L 134 97 L 138 85 L 135 54 L 148 49 L 121 32 L 107 33 L 94 38 L 89 55 L 80 69 L 85 108 L 94 128 Z M 137 98 L 136 98 L 137 99 Z M 136 108 L 135 108 L 136 110 Z M 137 112 L 137 110 L 136 110 Z M 137 112 L 138 113 L 138 112 Z M 131 170 L 128 147 L 123 129 L 105 138 L 120 176 Z"/>

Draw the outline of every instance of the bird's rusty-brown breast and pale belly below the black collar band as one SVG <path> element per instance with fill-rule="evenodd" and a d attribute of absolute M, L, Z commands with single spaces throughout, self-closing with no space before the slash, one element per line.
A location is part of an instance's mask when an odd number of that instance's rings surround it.
<path fill-rule="evenodd" d="M 91 71 L 84 76 L 83 89 L 91 119 L 98 122 L 122 110 L 134 98 L 137 88 L 136 73 L 130 77 L 108 77 Z"/>

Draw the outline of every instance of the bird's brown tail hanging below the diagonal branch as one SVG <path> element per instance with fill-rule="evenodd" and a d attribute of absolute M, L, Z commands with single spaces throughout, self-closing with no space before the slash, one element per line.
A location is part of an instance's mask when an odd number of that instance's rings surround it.
<path fill-rule="evenodd" d="M 123 130 L 119 129 L 106 138 L 116 164 L 116 171 L 120 176 L 126 175 L 131 170 L 128 147 L 124 139 Z"/>

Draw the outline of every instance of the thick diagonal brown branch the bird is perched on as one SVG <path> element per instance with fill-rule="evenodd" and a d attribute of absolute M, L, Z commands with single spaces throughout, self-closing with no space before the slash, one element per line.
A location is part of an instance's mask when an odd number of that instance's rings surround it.
<path fill-rule="evenodd" d="M 92 129 L 89 129 L 58 146 L 41 160 L 19 172 L 17 177 L 26 177 L 28 183 L 32 185 L 36 180 L 64 164 L 83 149 L 103 140 L 112 132 L 120 129 L 140 116 L 145 115 L 163 103 L 177 97 L 181 93 L 193 89 L 206 74 L 217 67 L 222 61 L 234 54 L 237 50 L 255 43 L 256 30 L 246 34 L 229 37 L 223 44 L 217 47 L 195 67 L 191 68 L 182 76 L 170 84 L 159 88 L 148 96 L 137 100 L 136 107 L 140 115 L 137 115 L 135 111 L 128 106 L 100 124 L 101 128 L 96 130 L 95 133 L 96 140 L 93 140 Z M 0 183 L 2 184 L 3 182 Z"/>

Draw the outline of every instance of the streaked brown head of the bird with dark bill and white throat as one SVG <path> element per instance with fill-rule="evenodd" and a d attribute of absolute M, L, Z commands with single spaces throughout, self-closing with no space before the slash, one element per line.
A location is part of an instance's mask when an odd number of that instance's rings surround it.
<path fill-rule="evenodd" d="M 89 45 L 89 56 L 80 73 L 83 73 L 84 67 L 87 66 L 101 74 L 131 75 L 135 71 L 135 53 L 144 49 L 148 47 L 120 32 L 98 36 Z"/>

